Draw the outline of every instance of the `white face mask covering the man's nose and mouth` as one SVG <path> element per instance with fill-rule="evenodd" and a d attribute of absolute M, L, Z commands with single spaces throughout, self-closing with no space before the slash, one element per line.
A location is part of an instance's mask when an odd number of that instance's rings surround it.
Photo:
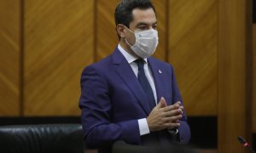
<path fill-rule="evenodd" d="M 128 28 L 127 28 L 128 29 Z M 128 29 L 131 31 L 130 29 Z M 140 58 L 148 58 L 152 54 L 158 45 L 158 32 L 154 29 L 149 29 L 146 31 L 131 31 L 134 33 L 136 42 L 134 45 L 131 46 L 129 42 L 127 42 L 126 38 L 125 41 L 131 47 L 133 52 L 137 54 Z"/>

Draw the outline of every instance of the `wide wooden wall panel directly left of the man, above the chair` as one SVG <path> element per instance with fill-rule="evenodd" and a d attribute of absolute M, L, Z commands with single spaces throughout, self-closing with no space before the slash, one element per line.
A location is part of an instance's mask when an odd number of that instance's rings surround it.
<path fill-rule="evenodd" d="M 93 0 L 26 0 L 25 116 L 73 116 L 93 62 Z"/>

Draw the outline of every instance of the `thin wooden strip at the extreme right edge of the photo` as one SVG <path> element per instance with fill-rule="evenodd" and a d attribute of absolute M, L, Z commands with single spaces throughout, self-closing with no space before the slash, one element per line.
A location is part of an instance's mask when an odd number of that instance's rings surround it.
<path fill-rule="evenodd" d="M 253 133 L 256 133 L 256 24 L 253 25 Z"/>

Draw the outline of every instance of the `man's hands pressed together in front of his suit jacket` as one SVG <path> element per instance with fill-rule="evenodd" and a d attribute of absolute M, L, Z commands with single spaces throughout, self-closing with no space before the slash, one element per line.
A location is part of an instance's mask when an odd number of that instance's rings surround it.
<path fill-rule="evenodd" d="M 159 104 L 154 107 L 147 117 L 149 131 L 179 127 L 179 119 L 183 117 L 182 114 L 183 106 L 181 106 L 180 101 L 177 101 L 174 105 L 167 106 L 166 99 L 162 97 Z"/>

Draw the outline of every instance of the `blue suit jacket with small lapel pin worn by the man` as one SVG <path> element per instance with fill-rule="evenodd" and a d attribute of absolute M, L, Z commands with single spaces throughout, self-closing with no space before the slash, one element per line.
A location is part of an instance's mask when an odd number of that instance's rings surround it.
<path fill-rule="evenodd" d="M 153 57 L 148 58 L 148 64 L 154 77 L 157 101 L 164 97 L 167 105 L 178 100 L 182 102 L 172 65 Z M 85 143 L 105 152 L 116 140 L 129 144 L 172 142 L 172 134 L 167 130 L 140 136 L 137 120 L 146 118 L 150 108 L 131 65 L 118 48 L 107 58 L 84 69 L 79 107 L 82 110 Z M 178 128 L 178 141 L 183 143 L 190 139 L 186 119 L 183 113 Z"/>

